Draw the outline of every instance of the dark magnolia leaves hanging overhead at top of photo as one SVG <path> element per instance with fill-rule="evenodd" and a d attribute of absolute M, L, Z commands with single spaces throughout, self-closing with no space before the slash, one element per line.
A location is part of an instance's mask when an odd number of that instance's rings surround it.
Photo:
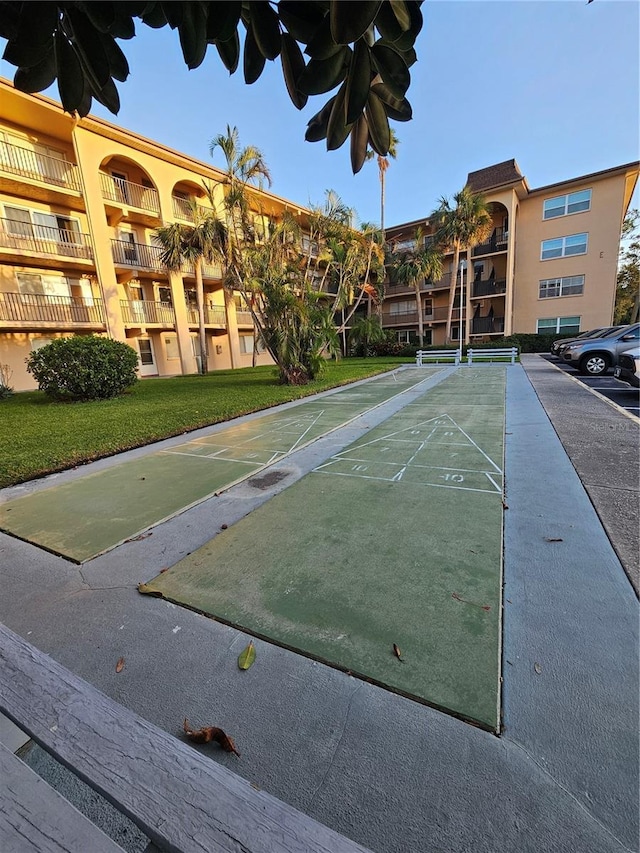
<path fill-rule="evenodd" d="M 380 156 L 388 153 L 390 119 L 411 119 L 406 94 L 423 23 L 421 3 L 0 0 L 0 37 L 7 40 L 3 59 L 17 67 L 17 89 L 41 92 L 57 81 L 63 109 L 80 116 L 87 115 L 94 99 L 118 112 L 116 81 L 126 81 L 129 64 L 117 40 L 133 38 L 136 27 L 177 30 L 190 69 L 203 63 L 210 46 L 230 74 L 242 57 L 247 84 L 259 79 L 267 61 L 280 57 L 297 109 L 310 95 L 331 93 L 309 120 L 305 139 L 326 140 L 333 150 L 351 136 L 355 172 L 369 147 Z"/>

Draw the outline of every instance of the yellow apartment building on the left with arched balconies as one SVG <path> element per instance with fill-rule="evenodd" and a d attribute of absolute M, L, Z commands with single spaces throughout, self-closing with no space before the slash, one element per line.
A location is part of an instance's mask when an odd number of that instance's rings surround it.
<path fill-rule="evenodd" d="M 189 199 L 222 199 L 224 174 L 163 145 L 0 80 L 0 364 L 34 388 L 25 358 L 54 338 L 102 334 L 131 345 L 142 376 L 195 373 L 195 273 L 169 273 L 154 231 L 193 219 Z M 252 191 L 256 216 L 308 211 Z M 250 366 L 254 329 L 222 269 L 204 269 L 207 369 Z M 271 363 L 257 353 L 257 363 Z"/>

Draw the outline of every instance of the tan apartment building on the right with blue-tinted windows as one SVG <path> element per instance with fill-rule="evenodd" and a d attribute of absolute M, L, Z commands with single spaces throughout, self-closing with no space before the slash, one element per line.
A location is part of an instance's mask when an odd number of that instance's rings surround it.
<path fill-rule="evenodd" d="M 467 185 L 488 203 L 493 227 L 481 245 L 444 259 L 438 281 L 422 281 L 424 345 L 447 343 L 450 283 L 455 276 L 451 339 L 491 341 L 518 332 L 565 334 L 613 320 L 620 231 L 638 180 L 638 162 L 531 189 L 515 160 L 470 172 Z M 428 218 L 387 229 L 399 248 L 429 239 Z M 387 285 L 383 326 L 399 341 L 418 333 L 415 289 Z"/>

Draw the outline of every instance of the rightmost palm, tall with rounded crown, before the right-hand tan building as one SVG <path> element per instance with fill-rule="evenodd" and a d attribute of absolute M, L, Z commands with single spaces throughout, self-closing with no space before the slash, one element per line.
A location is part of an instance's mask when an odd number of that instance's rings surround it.
<path fill-rule="evenodd" d="M 485 197 L 474 193 L 469 187 L 464 187 L 453 196 L 454 204 L 449 199 L 440 199 L 440 205 L 429 217 L 434 229 L 436 242 L 445 249 L 453 249 L 453 269 L 449 285 L 449 309 L 447 312 L 447 341 L 451 341 L 451 319 L 455 301 L 456 283 L 460 253 L 470 251 L 474 245 L 481 243 L 491 233 L 493 221 L 487 207 Z M 462 312 L 462 283 L 460 286 L 460 311 Z M 468 318 L 467 318 L 468 322 Z M 466 338 L 465 334 L 465 338 Z M 462 346 L 464 341 L 460 341 Z"/>

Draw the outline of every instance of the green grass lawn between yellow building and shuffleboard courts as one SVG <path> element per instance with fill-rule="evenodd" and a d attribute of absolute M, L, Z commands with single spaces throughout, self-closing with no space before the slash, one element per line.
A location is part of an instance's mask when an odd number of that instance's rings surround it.
<path fill-rule="evenodd" d="M 328 362 L 303 387 L 279 385 L 273 367 L 255 367 L 145 379 L 122 397 L 90 403 L 54 403 L 40 391 L 24 391 L 0 402 L 0 487 L 298 400 L 403 361 Z"/>

